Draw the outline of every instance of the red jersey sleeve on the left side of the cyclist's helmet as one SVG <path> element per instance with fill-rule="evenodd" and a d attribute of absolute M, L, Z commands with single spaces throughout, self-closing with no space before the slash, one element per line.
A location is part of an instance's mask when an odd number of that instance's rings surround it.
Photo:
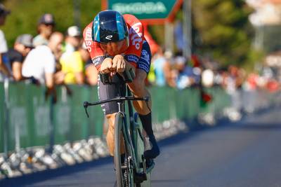
<path fill-rule="evenodd" d="M 105 59 L 105 53 L 103 52 L 102 48 L 100 48 L 100 44 L 92 39 L 92 26 L 93 22 L 91 22 L 87 27 L 84 29 L 83 38 L 84 43 L 87 47 L 87 50 L 90 53 L 91 60 L 95 65 L 98 71 L 100 70 L 100 64 Z"/>

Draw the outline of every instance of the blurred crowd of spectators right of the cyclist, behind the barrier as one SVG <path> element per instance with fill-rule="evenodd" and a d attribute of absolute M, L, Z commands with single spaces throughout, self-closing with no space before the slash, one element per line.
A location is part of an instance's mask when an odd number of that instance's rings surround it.
<path fill-rule="evenodd" d="M 171 86 L 184 89 L 195 86 L 221 86 L 231 93 L 237 89 L 265 89 L 275 92 L 280 89 L 281 69 L 264 64 L 256 72 L 247 73 L 235 65 L 220 67 L 217 62 L 192 55 L 190 59 L 181 52 L 174 56 L 160 48 L 153 56 L 148 83 L 158 86 Z"/>

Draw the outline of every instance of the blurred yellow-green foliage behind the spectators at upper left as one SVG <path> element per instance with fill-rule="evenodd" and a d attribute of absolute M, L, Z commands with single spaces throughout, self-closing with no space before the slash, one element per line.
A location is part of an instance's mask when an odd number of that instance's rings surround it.
<path fill-rule="evenodd" d="M 55 30 L 65 33 L 67 27 L 74 25 L 74 1 L 80 2 L 81 29 L 93 20 L 101 9 L 100 1 L 92 0 L 9 0 L 5 6 L 11 10 L 3 29 L 8 46 L 13 46 L 20 34 L 37 35 L 37 22 L 44 13 L 55 17 Z M 76 2 L 77 3 L 77 2 Z"/>

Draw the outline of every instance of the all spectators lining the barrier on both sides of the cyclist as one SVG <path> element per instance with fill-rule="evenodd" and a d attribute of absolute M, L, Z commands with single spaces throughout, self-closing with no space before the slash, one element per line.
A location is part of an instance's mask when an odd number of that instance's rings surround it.
<path fill-rule="evenodd" d="M 0 6 L 0 26 L 4 25 L 10 11 Z M 68 27 L 65 33 L 55 32 L 55 19 L 46 13 L 38 20 L 37 36 L 22 34 L 8 49 L 0 30 L 0 81 L 8 76 L 13 81 L 30 81 L 46 85 L 53 92 L 54 85 L 96 85 L 98 72 L 77 26 Z M 247 74 L 242 68 L 221 68 L 218 63 L 197 55 L 190 59 L 157 48 L 153 51 L 148 85 L 170 86 L 184 89 L 194 86 L 221 86 L 228 92 L 244 88 L 270 91 L 280 89 L 280 69 L 264 66 L 259 72 Z"/>

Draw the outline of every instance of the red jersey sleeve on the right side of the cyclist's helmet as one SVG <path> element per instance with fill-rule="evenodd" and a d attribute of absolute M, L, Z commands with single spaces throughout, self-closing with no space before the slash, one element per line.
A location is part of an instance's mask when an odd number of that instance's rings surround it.
<path fill-rule="evenodd" d="M 129 29 L 129 48 L 126 50 L 124 57 L 125 60 L 133 63 L 136 67 L 138 60 L 140 60 L 141 50 L 143 48 L 143 25 L 141 21 L 133 15 L 125 14 L 123 16 Z"/>

